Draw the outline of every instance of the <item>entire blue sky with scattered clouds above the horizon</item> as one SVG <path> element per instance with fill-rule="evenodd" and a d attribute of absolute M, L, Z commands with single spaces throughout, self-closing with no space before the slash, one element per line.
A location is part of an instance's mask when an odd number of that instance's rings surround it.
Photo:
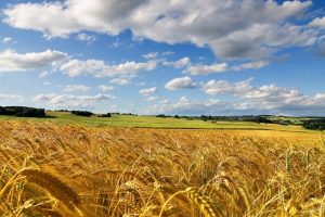
<path fill-rule="evenodd" d="M 325 1 L 1 0 L 0 105 L 325 116 Z"/>

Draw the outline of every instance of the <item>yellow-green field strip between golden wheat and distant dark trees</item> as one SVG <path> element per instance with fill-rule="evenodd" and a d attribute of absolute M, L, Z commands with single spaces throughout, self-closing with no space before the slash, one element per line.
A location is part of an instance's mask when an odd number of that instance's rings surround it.
<path fill-rule="evenodd" d="M 178 119 L 172 117 L 113 115 L 112 117 L 82 117 L 69 112 L 48 111 L 47 118 L 0 116 L 0 120 L 52 122 L 60 125 L 84 125 L 92 127 L 135 127 L 135 128 L 176 128 L 176 129 L 259 129 L 277 131 L 303 131 L 301 126 L 256 124 L 251 122 L 204 122 L 200 119 Z"/>

